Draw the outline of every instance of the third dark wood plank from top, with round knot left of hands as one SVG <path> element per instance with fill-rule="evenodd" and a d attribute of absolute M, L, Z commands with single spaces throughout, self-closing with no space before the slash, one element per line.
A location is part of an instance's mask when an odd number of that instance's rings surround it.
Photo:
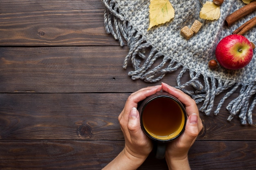
<path fill-rule="evenodd" d="M 0 94 L 1 139 L 123 140 L 117 120 L 130 93 Z M 218 101 L 216 101 L 218 102 Z M 216 107 L 216 105 L 215 105 Z M 197 140 L 256 140 L 256 125 L 242 126 L 229 113 L 201 113 Z M 254 111 L 254 117 L 255 117 Z"/>

